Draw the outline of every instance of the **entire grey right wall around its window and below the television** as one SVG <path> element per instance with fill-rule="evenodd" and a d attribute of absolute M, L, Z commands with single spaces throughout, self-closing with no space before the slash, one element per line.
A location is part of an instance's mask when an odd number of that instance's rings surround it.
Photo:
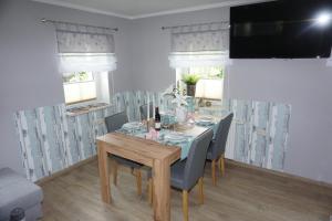
<path fill-rule="evenodd" d="M 134 87 L 159 91 L 175 82 L 175 71 L 167 59 L 169 32 L 160 27 L 228 18 L 229 9 L 219 8 L 135 20 Z M 325 63 L 325 60 L 236 60 L 228 72 L 227 96 L 291 104 L 286 171 L 332 182 L 332 67 Z"/>

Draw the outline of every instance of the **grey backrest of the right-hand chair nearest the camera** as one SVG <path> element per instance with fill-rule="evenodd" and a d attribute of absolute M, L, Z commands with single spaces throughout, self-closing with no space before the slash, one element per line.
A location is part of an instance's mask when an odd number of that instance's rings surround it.
<path fill-rule="evenodd" d="M 212 136 L 214 131 L 208 129 L 193 141 L 184 171 L 185 189 L 193 188 L 197 180 L 203 177 L 206 155 Z"/>

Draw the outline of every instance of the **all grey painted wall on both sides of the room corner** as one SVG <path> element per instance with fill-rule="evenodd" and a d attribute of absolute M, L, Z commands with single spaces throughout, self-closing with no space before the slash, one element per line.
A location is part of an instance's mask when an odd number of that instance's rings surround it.
<path fill-rule="evenodd" d="M 63 103 L 56 42 L 41 18 L 118 27 L 115 91 L 160 91 L 175 81 L 169 32 L 163 25 L 228 20 L 211 9 L 134 21 L 27 0 L 0 1 L 0 168 L 21 171 L 12 113 Z M 286 171 L 332 182 L 332 67 L 323 60 L 238 60 L 229 67 L 229 97 L 292 105 Z"/>

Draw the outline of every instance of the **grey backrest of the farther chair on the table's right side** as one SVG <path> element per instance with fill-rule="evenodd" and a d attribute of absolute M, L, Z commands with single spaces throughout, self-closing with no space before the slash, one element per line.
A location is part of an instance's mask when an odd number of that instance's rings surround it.
<path fill-rule="evenodd" d="M 220 120 L 219 127 L 216 133 L 216 137 L 214 140 L 214 147 L 212 147 L 212 156 L 219 157 L 225 152 L 228 131 L 231 125 L 234 114 L 229 114 L 227 117 Z"/>

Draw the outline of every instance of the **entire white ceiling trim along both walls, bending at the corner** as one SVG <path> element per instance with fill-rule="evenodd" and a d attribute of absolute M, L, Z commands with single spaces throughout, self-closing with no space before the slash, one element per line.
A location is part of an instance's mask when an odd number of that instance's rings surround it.
<path fill-rule="evenodd" d="M 63 1 L 59 1 L 59 0 L 31 0 L 31 1 L 49 3 L 49 4 L 59 6 L 59 7 L 65 7 L 65 8 L 70 8 L 70 9 L 76 9 L 76 10 L 81 10 L 81 11 L 100 13 L 100 14 L 105 14 L 105 15 L 111 15 L 111 17 L 118 17 L 118 18 L 123 18 L 123 19 L 135 20 L 135 19 L 143 19 L 143 18 L 149 18 L 149 17 L 159 17 L 159 15 L 167 15 L 167 14 L 175 14 L 175 13 L 183 13 L 183 12 L 190 12 L 190 11 L 199 11 L 199 10 L 205 10 L 205 9 L 266 2 L 266 1 L 271 1 L 271 0 L 228 0 L 228 1 L 219 2 L 219 3 L 203 4 L 203 6 L 198 6 L 198 7 L 187 7 L 187 8 L 183 8 L 183 9 L 159 11 L 159 12 L 155 12 L 155 13 L 146 13 L 146 14 L 139 14 L 139 15 L 127 15 L 127 14 L 115 13 L 115 12 L 111 12 L 111 11 L 103 11 L 103 10 L 97 10 L 97 9 L 93 9 L 90 7 L 83 7 L 83 6 L 63 2 Z"/>

